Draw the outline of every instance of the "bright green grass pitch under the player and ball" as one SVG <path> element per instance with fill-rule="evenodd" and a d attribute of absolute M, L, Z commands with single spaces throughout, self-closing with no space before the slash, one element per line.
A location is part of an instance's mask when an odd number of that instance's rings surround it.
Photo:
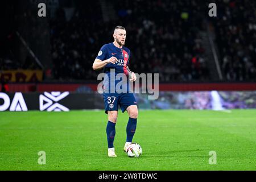
<path fill-rule="evenodd" d="M 123 152 L 127 113 L 119 112 L 117 158 L 108 158 L 104 111 L 0 113 L 0 170 L 255 170 L 256 110 L 140 110 L 134 142 Z M 39 165 L 39 151 L 46 164 Z M 216 164 L 209 164 L 210 151 Z"/>

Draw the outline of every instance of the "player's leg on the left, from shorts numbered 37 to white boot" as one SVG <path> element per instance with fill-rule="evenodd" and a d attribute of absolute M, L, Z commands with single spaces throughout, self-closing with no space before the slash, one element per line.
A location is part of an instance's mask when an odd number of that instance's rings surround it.
<path fill-rule="evenodd" d="M 108 125 L 106 134 L 108 139 L 108 156 L 116 157 L 114 150 L 115 123 L 117 123 L 118 114 L 118 95 L 104 94 L 105 113 L 108 114 Z"/>

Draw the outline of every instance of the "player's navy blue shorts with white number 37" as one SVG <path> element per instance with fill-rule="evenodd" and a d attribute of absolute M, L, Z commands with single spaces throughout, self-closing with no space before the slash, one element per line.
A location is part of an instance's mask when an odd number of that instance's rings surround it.
<path fill-rule="evenodd" d="M 137 105 L 133 93 L 104 93 L 105 113 L 108 111 L 117 110 L 118 105 L 121 107 L 122 112 L 125 112 L 127 107 Z"/>

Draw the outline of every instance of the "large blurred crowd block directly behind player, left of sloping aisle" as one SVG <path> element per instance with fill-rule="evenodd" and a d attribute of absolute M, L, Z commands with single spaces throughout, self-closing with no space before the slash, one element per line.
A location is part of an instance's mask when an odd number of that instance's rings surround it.
<path fill-rule="evenodd" d="M 58 11 L 51 22 L 55 78 L 95 80 L 92 63 L 101 46 L 113 42 L 113 28 L 122 25 L 133 71 L 159 73 L 160 81 L 209 80 L 199 35 L 200 6 L 195 1 L 123 1 L 122 9 L 118 2 L 114 8 L 117 20 L 110 22 L 100 16 L 99 3 L 86 13 L 78 7 L 69 21 L 63 10 Z"/>

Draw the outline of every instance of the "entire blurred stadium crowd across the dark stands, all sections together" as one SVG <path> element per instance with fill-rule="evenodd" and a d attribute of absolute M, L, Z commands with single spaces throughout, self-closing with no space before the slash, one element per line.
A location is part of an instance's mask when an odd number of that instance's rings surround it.
<path fill-rule="evenodd" d="M 159 73 L 163 82 L 214 80 L 210 77 L 213 70 L 209 68 L 200 36 L 200 31 L 205 31 L 207 3 L 123 0 L 121 6 L 118 1 L 112 1 L 116 19 L 105 22 L 100 1 L 74 2 L 77 3 L 71 17 L 67 18 L 70 12 L 59 8 L 55 18 L 49 19 L 53 80 L 96 80 L 101 71 L 93 71 L 92 63 L 101 46 L 113 42 L 113 28 L 117 25 L 126 27 L 132 71 Z M 255 81 L 256 3 L 214 2 L 217 17 L 208 20 L 215 30 L 224 80 Z M 23 15 L 27 24 L 31 24 L 29 15 Z M 6 42 L 14 37 L 14 32 L 7 35 Z M 1 47 L 0 69 L 36 68 L 30 59 L 28 56 L 27 61 L 19 63 L 5 44 Z"/>

